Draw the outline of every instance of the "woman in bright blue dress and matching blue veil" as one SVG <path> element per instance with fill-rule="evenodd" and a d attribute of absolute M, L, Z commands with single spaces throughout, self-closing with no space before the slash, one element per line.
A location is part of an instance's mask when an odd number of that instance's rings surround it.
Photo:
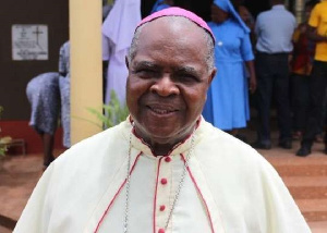
<path fill-rule="evenodd" d="M 238 136 L 238 128 L 245 127 L 250 120 L 249 88 L 252 93 L 256 88 L 250 29 L 229 0 L 214 1 L 211 21 L 208 25 L 216 37 L 217 74 L 208 89 L 203 115 L 216 127 Z"/>

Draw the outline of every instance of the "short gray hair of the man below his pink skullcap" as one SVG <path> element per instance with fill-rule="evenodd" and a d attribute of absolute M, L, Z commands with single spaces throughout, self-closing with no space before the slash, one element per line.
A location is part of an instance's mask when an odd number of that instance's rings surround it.
<path fill-rule="evenodd" d="M 168 16 L 168 19 L 173 21 L 173 22 L 177 21 L 177 20 L 186 20 L 189 22 L 192 22 L 189 19 L 183 17 L 183 16 Z M 149 23 L 149 22 L 147 22 L 147 23 Z M 129 51 L 129 54 L 128 54 L 128 59 L 129 59 L 130 62 L 135 58 L 137 47 L 138 47 L 138 42 L 140 42 L 140 35 L 142 33 L 142 29 L 144 28 L 144 26 L 147 23 L 145 23 L 145 24 L 141 25 L 140 27 L 137 27 L 135 33 L 134 33 L 134 37 L 132 39 L 131 48 L 130 48 L 130 51 Z M 205 60 L 206 60 L 207 69 L 210 72 L 215 69 L 215 52 L 214 52 L 215 51 L 215 45 L 214 45 L 214 40 L 213 40 L 211 35 L 206 29 L 204 29 L 203 27 L 201 27 L 201 28 L 203 29 L 203 37 L 206 40 L 207 54 L 206 54 Z"/>

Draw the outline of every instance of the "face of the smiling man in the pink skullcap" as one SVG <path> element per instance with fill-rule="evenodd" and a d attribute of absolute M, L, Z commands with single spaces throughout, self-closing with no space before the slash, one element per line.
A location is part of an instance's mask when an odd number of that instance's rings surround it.
<path fill-rule="evenodd" d="M 126 101 L 136 133 L 152 146 L 174 145 L 198 120 L 215 70 L 209 73 L 202 28 L 158 19 L 142 29 L 129 65 Z"/>

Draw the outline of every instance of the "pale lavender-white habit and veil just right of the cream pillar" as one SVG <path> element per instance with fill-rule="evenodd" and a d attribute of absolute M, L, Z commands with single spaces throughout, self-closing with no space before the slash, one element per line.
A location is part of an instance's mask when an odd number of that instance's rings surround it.
<path fill-rule="evenodd" d="M 141 0 L 117 0 L 102 24 L 102 60 L 109 61 L 106 103 L 113 89 L 121 103 L 125 102 L 129 52 L 134 30 L 141 22 Z"/>

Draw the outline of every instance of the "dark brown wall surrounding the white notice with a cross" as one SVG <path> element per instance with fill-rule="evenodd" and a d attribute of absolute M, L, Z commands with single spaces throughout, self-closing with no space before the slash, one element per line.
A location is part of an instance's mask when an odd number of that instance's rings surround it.
<path fill-rule="evenodd" d="M 60 46 L 69 38 L 68 0 L 3 1 L 0 8 L 0 105 L 3 120 L 29 119 L 25 88 L 34 76 L 58 71 Z M 11 27 L 13 24 L 48 25 L 49 60 L 13 61 Z"/>

